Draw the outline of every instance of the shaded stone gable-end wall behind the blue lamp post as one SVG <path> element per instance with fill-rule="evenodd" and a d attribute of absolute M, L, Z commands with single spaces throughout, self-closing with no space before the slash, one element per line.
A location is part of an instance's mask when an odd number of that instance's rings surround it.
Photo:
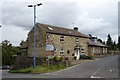
<path fill-rule="evenodd" d="M 36 56 L 37 57 L 45 57 L 46 52 L 46 32 L 41 27 L 37 26 L 37 32 L 36 32 Z M 33 51 L 34 51 L 34 33 L 33 29 L 28 34 L 28 57 L 33 57 Z"/>

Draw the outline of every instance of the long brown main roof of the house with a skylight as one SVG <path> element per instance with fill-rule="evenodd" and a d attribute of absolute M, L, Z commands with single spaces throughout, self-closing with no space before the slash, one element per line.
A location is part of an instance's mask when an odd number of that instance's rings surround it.
<path fill-rule="evenodd" d="M 82 34 L 78 31 L 75 31 L 74 29 L 67 29 L 67 28 L 63 28 L 63 27 L 57 27 L 57 26 L 41 24 L 41 23 L 37 23 L 36 25 L 45 29 L 46 32 L 48 32 L 48 33 L 77 36 L 77 37 L 84 37 L 84 38 L 89 37 L 88 35 Z"/>

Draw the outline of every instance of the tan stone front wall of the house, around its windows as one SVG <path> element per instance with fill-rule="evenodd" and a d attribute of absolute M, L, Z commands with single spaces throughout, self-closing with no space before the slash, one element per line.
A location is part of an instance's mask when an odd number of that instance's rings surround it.
<path fill-rule="evenodd" d="M 54 45 L 56 48 L 56 54 L 55 55 L 61 55 L 60 51 L 61 48 L 64 48 L 64 54 L 61 56 L 69 57 L 70 59 L 73 59 L 74 56 L 74 49 L 77 44 L 85 48 L 85 54 L 88 54 L 88 39 L 87 38 L 80 38 L 79 37 L 79 43 L 76 44 L 76 37 L 75 36 L 65 36 L 64 35 L 64 41 L 60 41 L 60 37 L 62 35 L 57 34 L 48 34 L 49 38 L 47 39 L 46 43 L 50 45 Z M 68 52 L 69 51 L 69 52 Z"/>

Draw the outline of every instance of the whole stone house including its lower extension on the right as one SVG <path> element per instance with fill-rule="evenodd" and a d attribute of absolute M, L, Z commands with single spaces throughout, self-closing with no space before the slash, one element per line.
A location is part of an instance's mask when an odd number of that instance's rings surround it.
<path fill-rule="evenodd" d="M 26 43 L 21 46 L 22 54 L 34 55 L 34 28 L 28 33 Z M 79 60 L 81 54 L 106 54 L 107 46 L 94 37 L 82 34 L 77 27 L 67 29 L 36 23 L 36 57 L 63 56 Z"/>

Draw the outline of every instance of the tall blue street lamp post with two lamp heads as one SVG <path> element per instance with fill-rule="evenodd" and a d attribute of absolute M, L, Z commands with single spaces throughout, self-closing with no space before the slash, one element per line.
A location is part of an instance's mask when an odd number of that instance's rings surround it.
<path fill-rule="evenodd" d="M 42 3 L 37 5 L 28 5 L 28 7 L 34 7 L 34 69 L 36 68 L 36 6 L 40 6 Z"/>

